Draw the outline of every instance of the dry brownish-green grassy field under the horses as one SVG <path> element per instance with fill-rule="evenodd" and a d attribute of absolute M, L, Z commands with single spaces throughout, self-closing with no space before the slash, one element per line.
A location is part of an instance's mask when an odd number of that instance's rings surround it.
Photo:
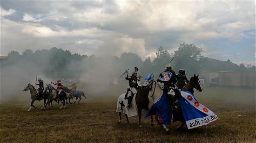
<path fill-rule="evenodd" d="M 196 92 L 198 101 L 212 109 L 219 117 L 214 123 L 192 130 L 176 130 L 179 123 L 169 125 L 166 135 L 150 119 L 130 118 L 117 124 L 117 95 L 87 95 L 81 104 L 68 105 L 59 110 L 38 109 L 27 112 L 29 104 L 11 102 L 0 105 L 0 142 L 5 141 L 172 141 L 172 142 L 255 142 L 255 90 L 245 88 L 204 88 Z M 29 99 L 29 98 L 28 98 Z"/>

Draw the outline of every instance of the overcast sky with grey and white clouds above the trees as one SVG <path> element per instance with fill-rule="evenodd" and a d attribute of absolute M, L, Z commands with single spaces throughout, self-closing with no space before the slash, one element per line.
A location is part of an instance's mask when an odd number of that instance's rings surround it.
<path fill-rule="evenodd" d="M 1 1 L 1 55 L 14 50 L 137 53 L 193 43 L 204 56 L 255 65 L 254 1 Z"/>

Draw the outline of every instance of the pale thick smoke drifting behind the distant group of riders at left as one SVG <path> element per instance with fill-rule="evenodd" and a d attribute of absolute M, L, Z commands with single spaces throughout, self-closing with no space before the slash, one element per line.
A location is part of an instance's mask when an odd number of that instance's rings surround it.
<path fill-rule="evenodd" d="M 55 82 L 61 78 L 78 78 L 78 89 L 83 90 L 87 96 L 118 96 L 126 91 L 125 87 L 127 86 L 124 80 L 126 74 L 122 78 L 119 76 L 125 69 L 130 69 L 129 72 L 131 73 L 134 66 L 137 66 L 132 61 L 134 59 L 127 56 L 135 55 L 131 53 L 124 54 L 124 56 L 126 55 L 125 61 L 119 61 L 117 56 L 96 57 L 94 55 L 83 56 L 80 60 L 58 59 L 59 56 L 56 56 L 54 52 L 51 54 L 41 52 L 36 57 L 39 59 L 39 63 L 33 60 L 35 56 L 32 55 L 35 53 L 8 56 L 7 59 L 2 60 L 2 103 L 10 101 L 30 102 L 30 92 L 24 92 L 23 89 L 28 83 L 35 85 L 36 75 L 37 78 L 44 80 L 44 84 L 50 84 L 51 81 Z M 66 61 L 63 64 L 65 60 L 70 60 L 70 62 Z M 68 84 L 71 83 L 64 82 L 65 86 Z"/>

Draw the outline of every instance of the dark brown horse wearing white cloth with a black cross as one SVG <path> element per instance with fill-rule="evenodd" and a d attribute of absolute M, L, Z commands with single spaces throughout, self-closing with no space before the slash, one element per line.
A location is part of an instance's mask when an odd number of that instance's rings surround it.
<path fill-rule="evenodd" d="M 138 91 L 135 95 L 135 101 L 136 101 L 136 104 L 137 104 L 137 108 L 138 108 L 138 116 L 139 116 L 139 127 L 142 127 L 142 125 L 140 125 L 140 120 L 142 118 L 142 111 L 143 109 L 145 109 L 146 111 L 149 111 L 149 85 L 142 85 L 141 87 L 138 88 Z M 119 121 L 118 121 L 118 124 L 121 123 L 121 115 L 122 115 L 122 112 L 120 112 L 120 110 L 124 111 L 126 106 L 124 105 L 124 102 L 127 102 L 126 99 L 124 99 L 124 96 L 125 94 L 122 94 L 119 96 L 118 98 L 118 103 L 117 104 L 121 104 L 120 108 L 121 109 L 118 109 L 118 105 L 117 105 L 117 112 L 119 112 Z M 130 110 L 130 109 L 129 109 Z M 125 113 L 125 117 L 126 117 L 126 121 L 127 121 L 127 124 L 129 124 L 129 119 L 128 119 L 128 116 L 127 114 Z M 151 116 L 151 126 L 153 126 L 153 117 Z"/>

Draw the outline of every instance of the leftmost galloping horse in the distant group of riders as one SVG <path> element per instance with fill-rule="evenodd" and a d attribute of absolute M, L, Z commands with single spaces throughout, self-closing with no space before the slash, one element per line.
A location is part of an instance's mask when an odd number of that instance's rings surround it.
<path fill-rule="evenodd" d="M 35 101 L 39 101 L 39 100 L 41 100 L 41 99 L 44 99 L 44 105 L 43 105 L 42 109 L 45 109 L 45 106 L 46 106 L 46 99 L 48 99 L 49 94 L 45 94 L 45 92 L 43 92 L 43 94 L 41 95 L 41 98 L 38 99 L 38 95 L 36 94 L 36 88 L 33 87 L 33 85 L 31 85 L 30 83 L 29 83 L 28 85 L 26 85 L 26 87 L 24 88 L 23 91 L 28 91 L 28 90 L 30 90 L 30 95 L 31 95 L 30 97 L 31 97 L 31 99 L 32 99 L 28 111 L 31 110 L 31 107 L 37 109 L 36 106 L 33 105 L 33 103 L 34 103 Z"/>

